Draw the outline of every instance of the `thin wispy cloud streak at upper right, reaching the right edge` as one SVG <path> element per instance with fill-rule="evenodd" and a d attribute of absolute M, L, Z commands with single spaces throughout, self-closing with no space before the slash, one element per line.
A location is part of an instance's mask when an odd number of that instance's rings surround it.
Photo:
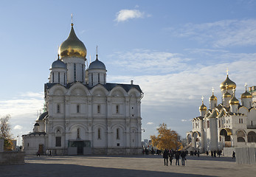
<path fill-rule="evenodd" d="M 252 46 L 256 44 L 256 20 L 223 20 L 204 24 L 185 24 L 179 28 L 167 28 L 173 36 L 215 48 Z"/>

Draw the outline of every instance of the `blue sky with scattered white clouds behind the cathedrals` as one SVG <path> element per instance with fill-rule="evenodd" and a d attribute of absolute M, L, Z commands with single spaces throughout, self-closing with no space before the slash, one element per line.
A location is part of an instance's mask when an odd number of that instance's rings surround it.
<path fill-rule="evenodd" d="M 10 114 L 14 137 L 32 131 L 44 106 L 44 83 L 72 21 L 88 62 L 105 63 L 108 83 L 139 84 L 142 139 L 165 122 L 181 137 L 209 108 L 220 84 L 256 80 L 256 1 L 1 1 L 0 116 Z"/>

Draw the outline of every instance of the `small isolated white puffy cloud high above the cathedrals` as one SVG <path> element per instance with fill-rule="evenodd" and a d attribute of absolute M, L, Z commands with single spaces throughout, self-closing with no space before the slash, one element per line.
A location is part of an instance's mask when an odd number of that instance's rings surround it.
<path fill-rule="evenodd" d="M 115 21 L 128 21 L 132 18 L 144 18 L 145 13 L 140 12 L 139 10 L 120 10 L 116 15 Z"/>

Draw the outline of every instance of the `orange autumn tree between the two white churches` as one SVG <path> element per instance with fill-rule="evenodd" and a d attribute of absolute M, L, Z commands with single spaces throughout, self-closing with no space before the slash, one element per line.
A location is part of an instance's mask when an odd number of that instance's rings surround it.
<path fill-rule="evenodd" d="M 152 145 L 154 147 L 157 147 L 159 150 L 181 150 L 183 148 L 181 142 L 179 142 L 178 133 L 168 129 L 165 123 L 160 124 L 159 128 L 156 128 L 156 130 L 158 131 L 158 136 L 151 136 Z"/>

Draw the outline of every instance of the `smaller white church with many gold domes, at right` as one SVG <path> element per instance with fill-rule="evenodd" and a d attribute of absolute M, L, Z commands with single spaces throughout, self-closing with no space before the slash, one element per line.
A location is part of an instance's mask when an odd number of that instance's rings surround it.
<path fill-rule="evenodd" d="M 187 147 L 201 153 L 224 147 L 256 147 L 256 109 L 252 105 L 252 94 L 246 89 L 240 103 L 235 95 L 236 84 L 229 79 L 229 74 L 220 88 L 220 104 L 214 89 L 209 108 L 202 97 L 200 116 L 193 118 L 193 129 L 187 132 Z"/>

